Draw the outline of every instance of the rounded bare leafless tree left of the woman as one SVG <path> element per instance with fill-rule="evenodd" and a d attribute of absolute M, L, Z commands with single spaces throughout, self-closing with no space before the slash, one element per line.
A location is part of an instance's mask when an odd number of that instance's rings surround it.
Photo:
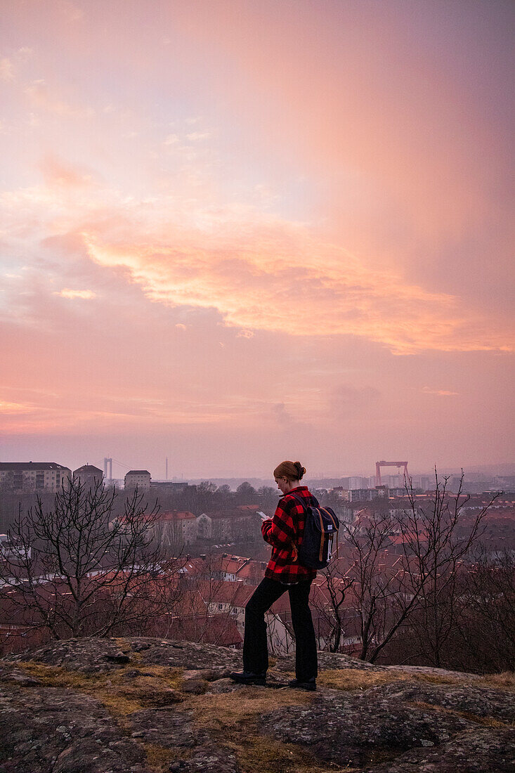
<path fill-rule="evenodd" d="M 25 625 L 53 638 L 107 635 L 156 614 L 157 506 L 149 510 L 136 489 L 112 520 L 116 497 L 101 482 L 71 478 L 52 509 L 38 498 L 26 516 L 19 512 L 0 580 Z"/>

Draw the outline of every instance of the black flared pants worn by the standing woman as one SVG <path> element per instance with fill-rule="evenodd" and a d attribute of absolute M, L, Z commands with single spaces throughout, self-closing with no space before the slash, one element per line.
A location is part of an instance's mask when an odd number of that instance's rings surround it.
<path fill-rule="evenodd" d="M 295 677 L 301 681 L 317 676 L 315 628 L 309 609 L 311 580 L 283 585 L 264 577 L 245 608 L 244 670 L 262 673 L 268 669 L 267 625 L 264 613 L 288 591 L 295 634 Z"/>

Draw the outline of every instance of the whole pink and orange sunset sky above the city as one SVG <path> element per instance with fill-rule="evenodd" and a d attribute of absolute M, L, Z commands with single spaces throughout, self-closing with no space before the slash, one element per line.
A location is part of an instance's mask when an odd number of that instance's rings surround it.
<path fill-rule="evenodd" d="M 0 461 L 514 460 L 512 2 L 0 8 Z"/>

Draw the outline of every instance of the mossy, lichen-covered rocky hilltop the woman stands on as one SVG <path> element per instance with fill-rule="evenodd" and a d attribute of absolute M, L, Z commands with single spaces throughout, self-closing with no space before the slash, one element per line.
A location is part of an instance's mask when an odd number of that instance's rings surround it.
<path fill-rule="evenodd" d="M 513 674 L 320 653 L 319 690 L 232 683 L 233 649 L 71 639 L 0 660 L 2 773 L 513 771 Z"/>

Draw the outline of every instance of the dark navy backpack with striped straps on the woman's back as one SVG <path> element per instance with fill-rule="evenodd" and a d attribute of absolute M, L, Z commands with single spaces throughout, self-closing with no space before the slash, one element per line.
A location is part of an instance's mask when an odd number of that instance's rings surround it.
<path fill-rule="evenodd" d="M 298 563 L 309 569 L 325 569 L 331 553 L 333 540 L 336 536 L 338 550 L 339 520 L 330 507 L 320 507 L 314 496 L 315 506 L 306 505 L 301 497 L 290 494 L 302 505 L 305 511 L 304 538 L 298 548 Z"/>

